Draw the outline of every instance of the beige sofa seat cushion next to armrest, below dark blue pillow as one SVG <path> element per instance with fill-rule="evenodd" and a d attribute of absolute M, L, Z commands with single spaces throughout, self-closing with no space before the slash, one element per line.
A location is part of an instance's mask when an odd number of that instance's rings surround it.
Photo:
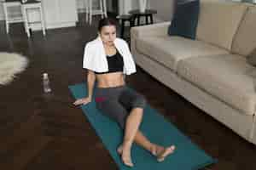
<path fill-rule="evenodd" d="M 136 41 L 136 48 L 139 53 L 147 55 L 172 71 L 177 70 L 177 62 L 180 59 L 229 53 L 205 42 L 176 36 L 141 37 Z"/>

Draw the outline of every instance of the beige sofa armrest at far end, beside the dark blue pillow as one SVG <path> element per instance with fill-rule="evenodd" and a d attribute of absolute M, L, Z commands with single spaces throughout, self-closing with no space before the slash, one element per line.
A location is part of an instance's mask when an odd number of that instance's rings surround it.
<path fill-rule="evenodd" d="M 153 25 L 147 26 L 135 26 L 131 27 L 131 38 L 132 37 L 158 37 L 166 36 L 168 31 L 168 26 L 171 22 L 161 22 Z"/>

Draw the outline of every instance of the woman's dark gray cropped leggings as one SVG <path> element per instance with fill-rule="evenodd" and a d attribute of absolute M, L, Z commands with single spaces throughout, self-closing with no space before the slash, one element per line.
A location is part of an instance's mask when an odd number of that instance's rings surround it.
<path fill-rule="evenodd" d="M 104 115 L 112 118 L 125 129 L 126 117 L 132 108 L 144 108 L 146 99 L 142 94 L 124 86 L 113 88 L 96 88 L 96 108 Z"/>

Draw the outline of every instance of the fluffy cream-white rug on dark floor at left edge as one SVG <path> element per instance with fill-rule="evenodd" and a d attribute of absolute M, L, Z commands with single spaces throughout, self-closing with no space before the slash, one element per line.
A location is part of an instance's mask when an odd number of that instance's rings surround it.
<path fill-rule="evenodd" d="M 15 74 L 26 69 L 28 59 L 15 53 L 0 53 L 0 85 L 9 84 L 15 78 Z"/>

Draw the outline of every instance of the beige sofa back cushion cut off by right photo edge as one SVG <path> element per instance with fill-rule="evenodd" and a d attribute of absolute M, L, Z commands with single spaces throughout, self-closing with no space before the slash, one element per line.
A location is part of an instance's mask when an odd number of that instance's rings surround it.
<path fill-rule="evenodd" d="M 232 52 L 241 55 L 248 55 L 256 48 L 256 7 L 250 7 L 244 15 L 239 26 L 234 42 Z"/>

